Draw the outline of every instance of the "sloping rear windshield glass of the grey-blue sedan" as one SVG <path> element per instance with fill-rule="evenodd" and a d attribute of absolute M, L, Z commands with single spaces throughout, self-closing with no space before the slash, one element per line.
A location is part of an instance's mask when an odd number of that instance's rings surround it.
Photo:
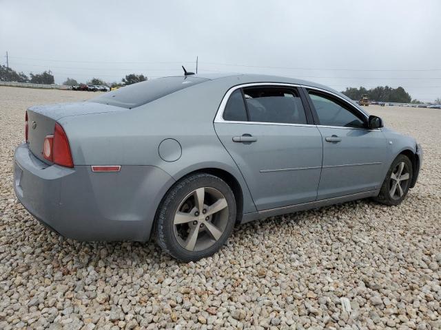
<path fill-rule="evenodd" d="M 131 109 L 207 80 L 209 79 L 188 76 L 157 78 L 121 87 L 96 98 L 92 98 L 89 102 L 110 104 L 116 107 Z"/>

